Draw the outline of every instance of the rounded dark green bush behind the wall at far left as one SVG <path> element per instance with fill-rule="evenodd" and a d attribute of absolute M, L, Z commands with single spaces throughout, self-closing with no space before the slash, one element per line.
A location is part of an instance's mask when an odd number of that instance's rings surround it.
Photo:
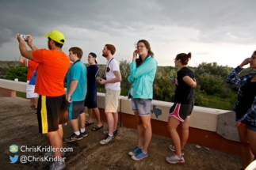
<path fill-rule="evenodd" d="M 14 78 L 18 78 L 19 81 L 26 82 L 27 81 L 27 67 L 24 65 L 20 65 L 17 67 L 11 67 L 6 74 L 7 80 L 14 80 Z"/>

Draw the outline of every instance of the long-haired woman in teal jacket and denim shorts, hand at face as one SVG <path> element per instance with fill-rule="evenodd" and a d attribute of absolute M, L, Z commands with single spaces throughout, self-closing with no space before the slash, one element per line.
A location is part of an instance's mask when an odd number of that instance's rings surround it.
<path fill-rule="evenodd" d="M 128 154 L 133 160 L 139 161 L 147 157 L 147 147 L 151 142 L 151 100 L 157 61 L 153 58 L 154 53 L 147 40 L 139 40 L 136 48 L 128 76 L 128 81 L 132 83 L 128 98 L 132 98 L 132 110 L 136 115 L 138 144 Z"/>

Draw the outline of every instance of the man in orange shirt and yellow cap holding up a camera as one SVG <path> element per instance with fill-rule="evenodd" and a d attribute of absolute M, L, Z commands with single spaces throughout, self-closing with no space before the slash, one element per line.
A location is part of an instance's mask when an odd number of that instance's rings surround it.
<path fill-rule="evenodd" d="M 17 35 L 17 40 L 21 55 L 39 63 L 35 87 L 35 92 L 40 95 L 37 106 L 39 131 L 47 135 L 54 149 L 52 153 L 55 160 L 50 169 L 64 169 L 66 163 L 65 157 L 62 157 L 63 127 L 59 124 L 59 117 L 63 111 L 67 111 L 63 81 L 70 66 L 70 60 L 62 51 L 65 36 L 55 30 L 44 34 L 48 37 L 49 50 L 37 49 L 32 44 L 32 36 L 28 36 L 27 44 L 32 51 L 27 50 L 22 36 Z"/>

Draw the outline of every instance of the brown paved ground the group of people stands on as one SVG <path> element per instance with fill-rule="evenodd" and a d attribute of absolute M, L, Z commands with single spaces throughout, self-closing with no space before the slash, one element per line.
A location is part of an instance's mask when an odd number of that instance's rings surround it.
<path fill-rule="evenodd" d="M 9 146 L 16 144 L 36 147 L 48 146 L 45 135 L 38 133 L 35 111 L 29 111 L 29 100 L 0 96 L 0 169 L 48 169 L 52 162 L 28 162 L 21 164 L 17 161 L 10 164 Z M 71 147 L 73 152 L 66 153 L 67 169 L 239 169 L 241 158 L 212 149 L 200 148 L 188 144 L 185 146 L 185 164 L 169 164 L 166 156 L 173 154 L 168 145 L 170 138 L 153 135 L 148 150 L 149 156 L 142 161 L 132 161 L 128 152 L 136 145 L 136 130 L 119 127 L 116 142 L 101 145 L 99 141 L 105 137 L 103 130 L 90 131 L 88 136 L 79 142 L 63 142 L 64 147 Z M 159 127 L 166 128 L 166 127 Z M 63 126 L 64 138 L 72 134 L 71 125 Z M 43 157 L 44 153 L 21 153 L 17 155 Z"/>

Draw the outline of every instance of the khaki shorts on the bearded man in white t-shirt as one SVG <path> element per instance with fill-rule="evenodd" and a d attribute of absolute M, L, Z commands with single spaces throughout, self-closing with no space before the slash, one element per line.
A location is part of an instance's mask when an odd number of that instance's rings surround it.
<path fill-rule="evenodd" d="M 105 92 L 105 112 L 117 112 L 120 90 L 107 89 Z"/>

